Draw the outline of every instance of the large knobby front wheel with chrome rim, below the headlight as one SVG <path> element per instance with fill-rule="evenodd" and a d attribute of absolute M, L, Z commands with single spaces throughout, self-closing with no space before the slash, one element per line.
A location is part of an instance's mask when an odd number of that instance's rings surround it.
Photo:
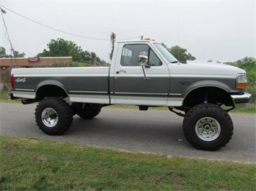
<path fill-rule="evenodd" d="M 190 109 L 183 121 L 183 133 L 198 149 L 214 151 L 226 146 L 233 134 L 229 114 L 211 103 L 202 103 Z"/>

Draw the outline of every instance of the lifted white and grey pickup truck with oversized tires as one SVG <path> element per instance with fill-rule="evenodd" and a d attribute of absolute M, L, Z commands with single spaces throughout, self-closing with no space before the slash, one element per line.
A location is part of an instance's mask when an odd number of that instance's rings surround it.
<path fill-rule="evenodd" d="M 211 63 L 183 64 L 151 40 L 117 42 L 110 67 L 13 69 L 11 85 L 10 99 L 39 102 L 35 121 L 45 134 L 63 134 L 74 115 L 94 118 L 102 107 L 112 104 L 136 105 L 143 111 L 167 106 L 184 116 L 187 141 L 205 150 L 229 142 L 233 123 L 228 112 L 246 106 L 252 97 L 244 93 L 244 70 Z"/>

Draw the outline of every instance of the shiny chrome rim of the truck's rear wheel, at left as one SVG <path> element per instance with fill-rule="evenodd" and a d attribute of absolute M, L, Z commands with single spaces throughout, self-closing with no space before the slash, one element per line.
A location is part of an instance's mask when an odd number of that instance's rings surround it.
<path fill-rule="evenodd" d="M 41 114 L 43 124 L 53 127 L 58 124 L 58 113 L 53 108 L 45 108 Z"/>

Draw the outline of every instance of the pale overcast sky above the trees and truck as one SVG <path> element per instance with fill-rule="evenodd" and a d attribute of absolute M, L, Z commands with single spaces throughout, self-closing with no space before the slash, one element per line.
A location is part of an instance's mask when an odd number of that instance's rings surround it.
<path fill-rule="evenodd" d="M 180 45 L 197 60 L 256 57 L 256 2 L 252 1 L 12 1 L 0 4 L 64 32 L 99 39 L 151 37 Z M 4 9 L 4 7 L 1 7 Z M 34 57 L 50 39 L 71 40 L 109 61 L 110 41 L 74 37 L 35 24 L 7 9 L 3 14 L 14 50 Z M 1 47 L 10 53 L 1 17 Z"/>

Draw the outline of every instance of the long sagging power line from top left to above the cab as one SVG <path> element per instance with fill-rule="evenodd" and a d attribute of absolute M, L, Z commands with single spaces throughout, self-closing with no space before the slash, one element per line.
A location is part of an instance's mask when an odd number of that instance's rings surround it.
<path fill-rule="evenodd" d="M 0 6 L 2 6 L 2 5 L 0 5 Z M 23 18 L 25 18 L 25 19 L 27 19 L 27 20 L 30 20 L 30 22 L 35 22 L 36 24 L 40 24 L 40 25 L 43 26 L 43 27 L 47 27 L 47 28 L 49 28 L 49 29 L 53 29 L 53 30 L 56 30 L 56 31 L 58 31 L 58 32 L 62 32 L 62 33 L 65 33 L 65 34 L 69 34 L 69 35 L 72 35 L 72 36 L 75 36 L 75 37 L 81 37 L 81 38 L 85 38 L 85 39 L 106 40 L 106 41 L 108 40 L 108 41 L 110 41 L 110 39 L 100 39 L 100 38 L 94 38 L 94 37 L 85 37 L 85 36 L 81 36 L 81 35 L 79 35 L 79 34 L 73 34 L 73 33 L 70 33 L 70 32 L 65 32 L 65 31 L 60 30 L 60 29 L 56 29 L 56 28 L 53 28 L 53 27 L 49 27 L 49 26 L 46 25 L 46 24 L 42 24 L 42 23 L 40 23 L 40 22 L 36 22 L 35 20 L 32 20 L 32 19 L 30 19 L 30 18 L 27 18 L 27 17 L 25 17 L 25 16 L 23 16 L 23 15 L 21 15 L 21 14 L 18 14 L 17 12 L 12 11 L 11 9 L 8 9 L 8 8 L 6 8 L 5 6 L 2 6 L 2 7 L 4 7 L 4 9 L 7 9 L 8 11 L 11 11 L 11 12 L 14 13 L 14 14 L 19 15 L 19 17 L 23 17 Z M 128 38 L 128 39 L 136 39 L 136 38 L 140 38 L 140 36 L 138 36 L 138 37 L 133 37 L 133 38 Z M 118 40 L 127 40 L 127 39 L 118 39 Z"/>

